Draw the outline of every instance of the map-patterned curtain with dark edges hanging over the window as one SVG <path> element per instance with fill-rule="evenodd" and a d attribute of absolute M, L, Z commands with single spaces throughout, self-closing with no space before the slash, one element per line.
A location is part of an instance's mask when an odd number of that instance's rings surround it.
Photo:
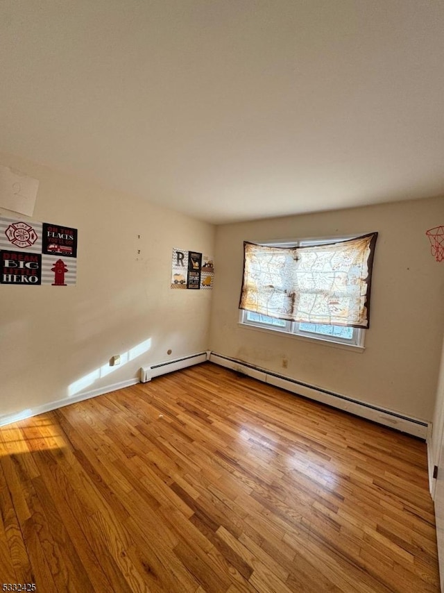
<path fill-rule="evenodd" d="M 287 321 L 368 328 L 377 233 L 309 247 L 244 242 L 239 308 Z"/>

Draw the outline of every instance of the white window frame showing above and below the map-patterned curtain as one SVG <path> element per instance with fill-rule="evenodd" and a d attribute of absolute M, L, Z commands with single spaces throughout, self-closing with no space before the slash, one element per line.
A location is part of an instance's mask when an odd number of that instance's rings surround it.
<path fill-rule="evenodd" d="M 260 245 L 267 245 L 269 247 L 307 247 L 310 245 L 319 245 L 325 243 L 332 243 L 338 241 L 345 241 L 348 239 L 354 239 L 358 235 L 352 235 L 351 237 L 332 237 L 332 238 L 322 238 L 316 240 L 298 240 L 298 241 L 273 241 L 273 242 L 256 242 Z M 250 311 L 239 310 L 239 324 L 241 326 L 246 326 L 250 328 L 261 329 L 264 331 L 269 331 L 272 333 L 282 333 L 283 335 L 288 335 L 291 337 L 298 337 L 302 338 L 303 340 L 309 340 L 314 342 L 319 342 L 321 344 L 330 345 L 330 346 L 341 346 L 345 348 L 352 348 L 357 349 L 359 351 L 364 351 L 364 340 L 365 340 L 365 329 L 362 328 L 351 328 L 352 338 L 348 340 L 348 338 L 339 337 L 336 335 L 326 335 L 322 333 L 316 333 L 312 331 L 305 331 L 300 328 L 300 323 L 298 321 L 284 321 L 283 319 L 273 319 L 270 323 L 268 321 L 262 320 L 253 320 L 248 319 L 248 315 L 250 314 L 251 317 L 258 316 L 258 313 L 253 313 Z M 260 317 L 266 317 L 265 315 L 260 315 Z M 271 319 L 271 317 L 269 318 Z M 276 324 L 276 322 L 279 323 Z M 284 324 L 284 325 L 280 325 Z M 316 325 L 316 324 L 311 324 Z"/>

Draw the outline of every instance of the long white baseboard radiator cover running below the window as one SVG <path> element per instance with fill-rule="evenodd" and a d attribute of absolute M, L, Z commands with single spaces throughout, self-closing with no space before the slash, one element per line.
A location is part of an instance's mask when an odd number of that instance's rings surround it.
<path fill-rule="evenodd" d="M 248 362 L 237 360 L 236 358 L 230 358 L 229 356 L 223 356 L 217 353 L 210 353 L 209 360 L 214 362 L 216 365 L 233 369 L 242 374 L 248 375 L 264 383 L 269 383 L 275 387 L 282 387 L 282 389 L 289 392 L 293 392 L 298 395 L 307 397 L 307 399 L 314 399 L 321 403 L 326 403 L 332 408 L 338 408 L 350 414 L 355 414 L 368 420 L 373 420 L 378 424 L 384 424 L 384 426 L 390 426 L 395 428 L 397 431 L 407 433 L 415 437 L 420 437 L 424 440 L 429 440 L 432 433 L 432 423 L 424 420 L 407 417 L 398 412 L 387 410 L 386 408 L 378 408 L 370 403 L 364 403 L 357 401 L 348 396 L 344 396 L 332 391 L 325 390 L 321 387 L 315 387 L 307 383 L 302 383 L 296 379 L 280 375 L 278 373 L 255 367 L 250 365 Z"/>

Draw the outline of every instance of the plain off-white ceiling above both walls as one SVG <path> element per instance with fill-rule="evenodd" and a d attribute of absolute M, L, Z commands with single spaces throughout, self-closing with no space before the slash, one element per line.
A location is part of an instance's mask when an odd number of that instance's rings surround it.
<path fill-rule="evenodd" d="M 0 150 L 210 222 L 444 194 L 444 3 L 0 0 Z"/>

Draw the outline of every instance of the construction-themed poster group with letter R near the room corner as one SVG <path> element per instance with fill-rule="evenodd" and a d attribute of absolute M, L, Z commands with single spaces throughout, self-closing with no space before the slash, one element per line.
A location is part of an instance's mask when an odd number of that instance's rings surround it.
<path fill-rule="evenodd" d="M 173 249 L 171 288 L 200 290 L 213 287 L 213 259 L 198 251 Z"/>

